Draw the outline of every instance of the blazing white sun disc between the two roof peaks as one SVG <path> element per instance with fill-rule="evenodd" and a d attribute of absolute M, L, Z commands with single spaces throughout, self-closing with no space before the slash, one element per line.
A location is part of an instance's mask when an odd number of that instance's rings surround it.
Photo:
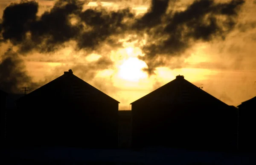
<path fill-rule="evenodd" d="M 139 79 L 147 77 L 147 74 L 142 70 L 146 66 L 146 63 L 138 58 L 128 58 L 119 67 L 118 75 L 128 81 L 139 81 Z"/>

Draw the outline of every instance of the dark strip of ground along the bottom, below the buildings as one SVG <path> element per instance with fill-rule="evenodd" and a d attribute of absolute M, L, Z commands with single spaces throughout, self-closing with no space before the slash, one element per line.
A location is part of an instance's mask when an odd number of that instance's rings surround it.
<path fill-rule="evenodd" d="M 0 165 L 256 165 L 254 154 L 178 149 L 0 149 Z"/>

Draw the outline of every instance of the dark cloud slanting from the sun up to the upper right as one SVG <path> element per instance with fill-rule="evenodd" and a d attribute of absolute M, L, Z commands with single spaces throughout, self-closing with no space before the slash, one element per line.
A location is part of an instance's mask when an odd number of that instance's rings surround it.
<path fill-rule="evenodd" d="M 239 7 L 243 3 L 244 0 L 229 3 L 196 0 L 184 11 L 162 14 L 161 26 L 148 31 L 150 39 L 143 46 L 145 56 L 141 59 L 148 64 L 149 73 L 156 67 L 167 65 L 166 61 L 155 62 L 159 56 L 181 55 L 196 41 L 207 42 L 216 37 L 224 39 L 236 25 Z M 166 7 L 162 11 L 166 11 Z M 151 23 L 143 26 L 151 28 Z"/>

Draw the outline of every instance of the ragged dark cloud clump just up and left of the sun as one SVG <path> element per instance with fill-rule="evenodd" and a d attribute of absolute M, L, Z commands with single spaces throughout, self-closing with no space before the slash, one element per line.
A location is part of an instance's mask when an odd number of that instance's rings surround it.
<path fill-rule="evenodd" d="M 113 38 L 109 37 L 128 31 L 129 25 L 124 21 L 133 17 L 134 14 L 128 8 L 116 12 L 108 12 L 103 8 L 99 10 L 87 9 L 80 14 L 80 18 L 92 30 L 81 32 L 81 35 L 77 38 L 79 48 L 93 49 L 104 41 L 112 44 L 117 43 L 119 38 L 113 42 Z"/>

